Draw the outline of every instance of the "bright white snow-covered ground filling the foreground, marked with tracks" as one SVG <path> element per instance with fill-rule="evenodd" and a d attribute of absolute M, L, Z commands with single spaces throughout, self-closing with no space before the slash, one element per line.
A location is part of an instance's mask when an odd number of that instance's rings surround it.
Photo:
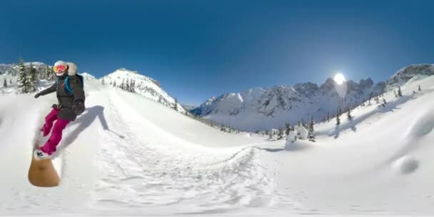
<path fill-rule="evenodd" d="M 338 127 L 316 124 L 316 143 L 287 146 L 218 131 L 100 81 L 85 85 L 87 109 L 61 141 L 57 188 L 26 178 L 34 132 L 56 96 L 0 95 L 2 215 L 434 213 L 434 76 L 405 84 L 402 97 L 386 93 L 385 106 L 355 109 Z"/>

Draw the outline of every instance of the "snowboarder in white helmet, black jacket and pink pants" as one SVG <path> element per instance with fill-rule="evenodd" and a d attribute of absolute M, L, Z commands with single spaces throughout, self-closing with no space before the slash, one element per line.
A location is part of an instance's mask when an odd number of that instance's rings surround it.
<path fill-rule="evenodd" d="M 44 146 L 35 149 L 36 159 L 51 158 L 61 141 L 64 128 L 69 122 L 75 121 L 85 109 L 83 77 L 77 74 L 76 64 L 57 61 L 53 71 L 57 77 L 56 83 L 35 95 L 35 98 L 38 98 L 56 92 L 58 99 L 58 104 L 53 104 L 53 109 L 45 117 L 44 126 L 41 128 L 43 136 L 47 136 L 52 128 L 51 136 Z"/>

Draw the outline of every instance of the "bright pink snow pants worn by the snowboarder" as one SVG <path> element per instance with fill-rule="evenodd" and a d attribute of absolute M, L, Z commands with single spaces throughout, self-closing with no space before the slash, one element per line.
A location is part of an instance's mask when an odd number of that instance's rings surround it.
<path fill-rule="evenodd" d="M 57 113 L 59 113 L 59 109 L 51 110 L 51 112 L 45 117 L 45 124 L 41 128 L 44 132 L 44 136 L 47 136 L 50 133 L 51 128 L 53 128 L 49 140 L 41 147 L 41 151 L 50 155 L 56 151 L 56 146 L 59 145 L 62 139 L 62 131 L 64 131 L 66 125 L 69 123 L 68 120 L 57 118 Z M 54 121 L 56 121 L 56 123 L 54 123 Z"/>

